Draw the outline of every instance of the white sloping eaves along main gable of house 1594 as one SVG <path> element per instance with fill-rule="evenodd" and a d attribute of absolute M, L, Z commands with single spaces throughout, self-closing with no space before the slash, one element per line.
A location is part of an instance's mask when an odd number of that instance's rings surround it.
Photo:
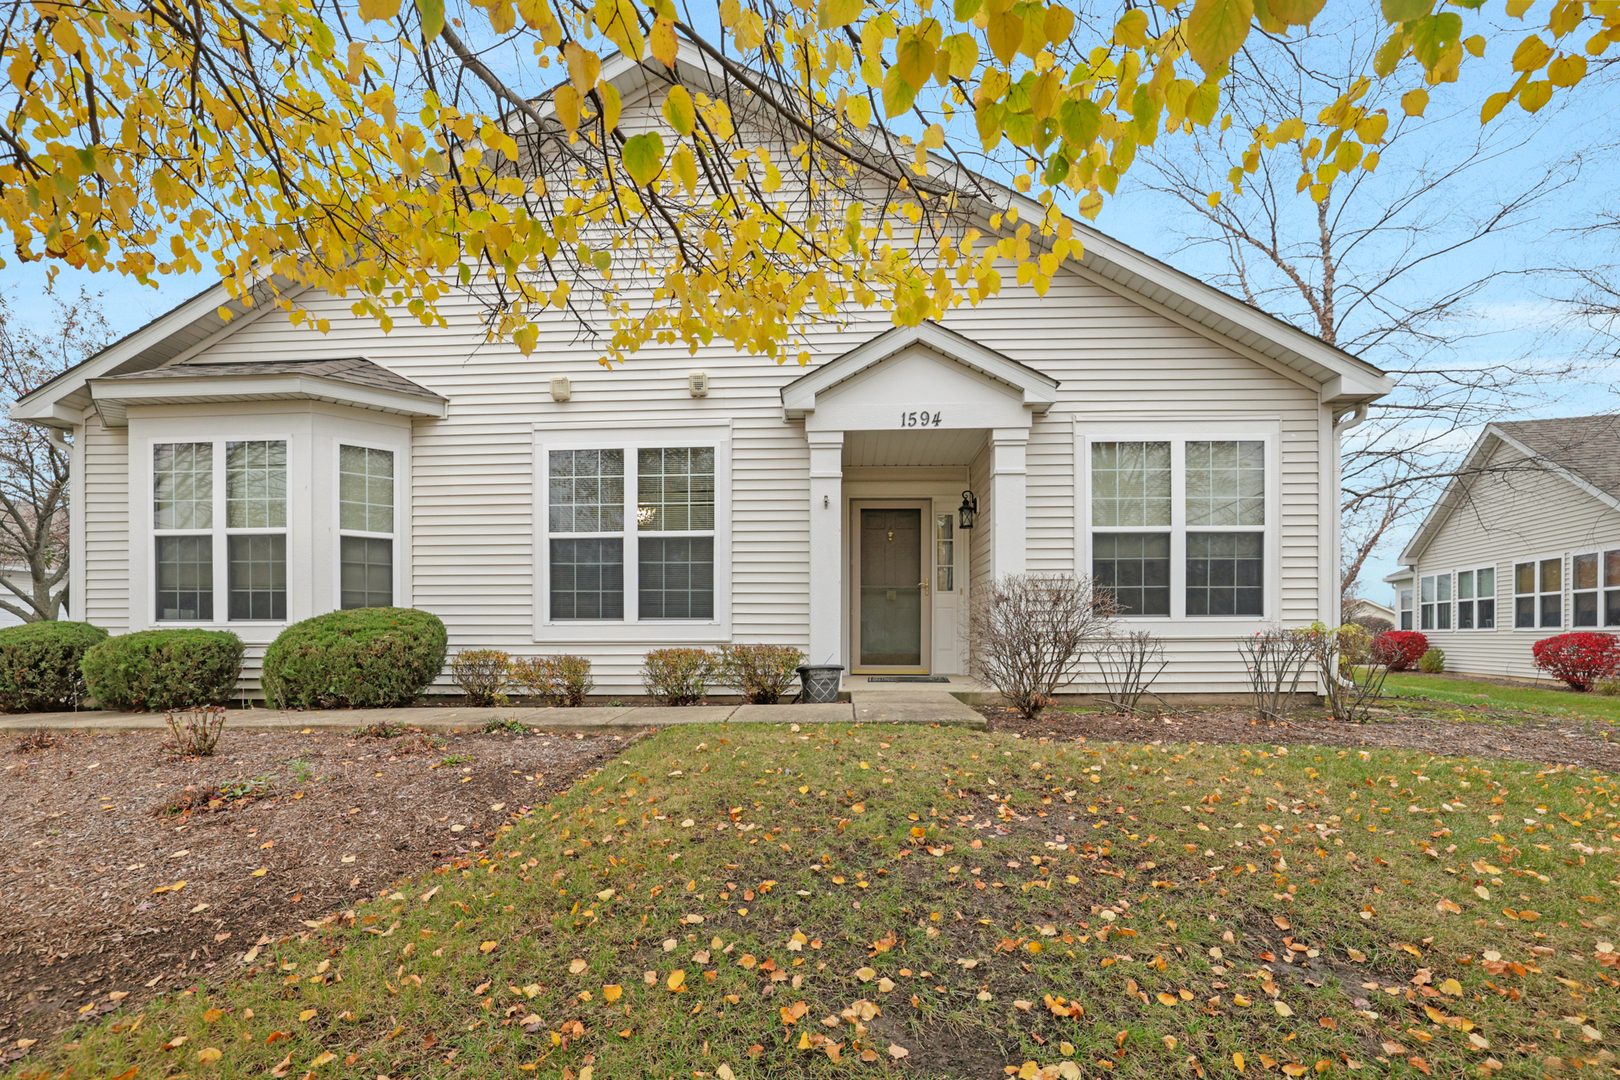
<path fill-rule="evenodd" d="M 727 78 L 726 71 L 710 57 L 695 53 L 693 49 L 682 49 L 677 63 L 682 68 L 684 78 L 692 76 L 693 84 L 700 79 L 724 83 Z M 614 84 L 624 100 L 629 100 L 632 94 L 654 83 L 654 74 L 651 74 L 653 65 L 651 58 L 637 62 L 622 53 L 614 53 L 603 60 L 603 78 Z M 541 113 L 551 113 L 552 102 L 549 94 L 536 99 L 535 107 Z M 526 123 L 526 120 L 520 123 Z M 961 165 L 938 154 L 933 159 L 941 175 L 949 172 L 967 173 Z M 1045 207 L 1037 201 L 977 173 L 969 175 L 972 175 L 978 186 L 996 191 L 1006 206 L 1019 207 L 1022 220 L 1040 220 L 1045 214 Z M 982 219 L 988 219 L 1000 209 L 1003 207 L 991 206 L 990 202 L 974 207 L 975 214 Z M 983 223 L 988 225 L 988 220 Z M 1011 228 L 1003 227 L 1003 232 L 1011 232 Z M 1298 372 L 1306 382 L 1317 387 L 1319 400 L 1324 403 L 1349 410 L 1351 406 L 1366 405 L 1383 397 L 1395 389 L 1393 379 L 1374 364 L 1328 345 L 1259 308 L 1252 308 L 1236 296 L 1230 296 L 1191 274 L 1184 274 L 1166 262 L 1137 251 L 1090 225 L 1077 222 L 1076 235 L 1084 246 L 1081 257 L 1084 270 L 1110 282 L 1121 291 L 1140 296 L 1181 319 L 1191 321 L 1241 350 Z M 240 322 L 240 316 L 258 314 L 269 308 L 267 301 L 274 296 L 288 296 L 303 291 L 303 288 L 285 279 L 267 279 L 254 290 L 254 303 L 245 304 L 232 300 L 224 285 L 214 285 L 115 342 L 96 356 L 57 376 L 45 385 L 26 393 L 11 405 L 11 416 L 53 427 L 73 427 L 79 423 L 83 410 L 91 403 L 86 385 L 89 379 L 159 368 L 175 358 L 181 358 L 185 353 L 196 351 L 209 338 L 227 334 L 232 325 L 219 314 L 222 309 L 238 316 Z"/>

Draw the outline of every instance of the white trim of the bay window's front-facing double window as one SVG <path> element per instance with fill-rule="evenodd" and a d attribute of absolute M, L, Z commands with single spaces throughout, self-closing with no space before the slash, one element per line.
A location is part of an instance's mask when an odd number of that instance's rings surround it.
<path fill-rule="evenodd" d="M 131 619 L 131 630 L 237 630 L 243 627 L 259 627 L 259 628 L 282 628 L 293 622 L 293 589 L 295 581 L 300 578 L 293 575 L 293 552 L 295 552 L 295 536 L 296 529 L 303 525 L 296 518 L 296 500 L 293 499 L 295 479 L 295 458 L 293 458 L 293 437 L 290 432 L 275 431 L 267 434 L 240 434 L 240 436 L 202 436 L 202 434 L 175 434 L 175 436 L 154 436 L 143 439 L 144 450 L 144 468 L 143 468 L 143 507 L 144 517 L 141 525 L 146 533 L 144 539 L 144 560 L 146 560 L 146 599 L 144 612 L 139 612 L 139 622 Z M 160 529 L 157 528 L 157 457 L 156 450 L 160 445 L 185 445 L 185 444 L 202 444 L 207 442 L 214 447 L 211 473 L 214 484 L 214 510 L 212 525 L 207 529 Z M 285 528 L 266 528 L 266 529 L 232 529 L 225 525 L 225 444 L 228 442 L 285 442 L 287 444 L 287 525 Z M 306 526 L 305 526 L 306 528 Z M 212 619 L 159 619 L 157 617 L 157 538 L 159 536 L 202 536 L 207 533 L 212 538 L 209 544 L 214 554 L 214 617 Z M 230 619 L 230 536 L 285 536 L 287 538 L 287 619 Z M 131 612 L 136 615 L 136 612 Z M 258 636 L 258 635 L 253 635 Z"/>

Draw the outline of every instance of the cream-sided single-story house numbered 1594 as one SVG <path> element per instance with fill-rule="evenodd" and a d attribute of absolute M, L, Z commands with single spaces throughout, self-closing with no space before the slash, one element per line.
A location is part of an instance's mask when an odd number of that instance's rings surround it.
<path fill-rule="evenodd" d="M 214 288 L 15 415 L 75 436 L 84 617 L 235 630 L 249 685 L 287 623 L 382 604 L 452 649 L 583 654 L 609 695 L 676 644 L 959 674 L 974 593 L 1040 572 L 1162 635 L 1158 690 L 1241 691 L 1241 638 L 1336 620 L 1340 437 L 1392 382 L 1081 236 L 1045 298 L 812 327 L 808 368 L 650 343 L 609 371 L 561 314 L 523 356 L 473 303 L 382 334 L 305 291 L 318 335 Z"/>

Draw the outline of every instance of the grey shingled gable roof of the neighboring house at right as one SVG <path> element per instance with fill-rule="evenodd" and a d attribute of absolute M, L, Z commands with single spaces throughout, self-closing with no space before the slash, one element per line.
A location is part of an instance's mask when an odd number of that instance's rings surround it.
<path fill-rule="evenodd" d="M 1554 476 L 1620 510 L 1620 413 L 1497 421 L 1486 424 L 1424 515 L 1401 552 L 1403 563 L 1418 562 L 1452 512 L 1468 499 L 1469 484 L 1487 471 L 1500 445 L 1513 447 Z"/>

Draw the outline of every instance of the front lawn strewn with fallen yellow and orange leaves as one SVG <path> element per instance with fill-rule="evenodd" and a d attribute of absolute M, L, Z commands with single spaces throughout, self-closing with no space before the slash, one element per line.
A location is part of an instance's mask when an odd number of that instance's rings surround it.
<path fill-rule="evenodd" d="M 16 1070 L 1596 1077 L 1617 808 L 1414 753 L 680 727 Z"/>

